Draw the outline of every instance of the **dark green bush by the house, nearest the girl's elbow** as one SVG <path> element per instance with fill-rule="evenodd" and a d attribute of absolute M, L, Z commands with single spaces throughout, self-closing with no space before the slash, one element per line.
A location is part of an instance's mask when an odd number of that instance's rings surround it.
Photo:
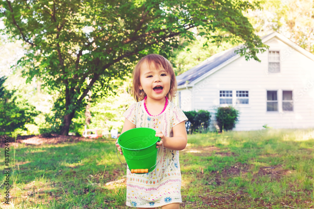
<path fill-rule="evenodd" d="M 196 112 L 193 110 L 184 112 L 184 114 L 187 116 L 187 119 L 189 119 L 188 122 L 185 123 L 188 133 L 202 133 L 207 131 L 210 122 L 210 112 L 206 110 L 199 110 Z"/>

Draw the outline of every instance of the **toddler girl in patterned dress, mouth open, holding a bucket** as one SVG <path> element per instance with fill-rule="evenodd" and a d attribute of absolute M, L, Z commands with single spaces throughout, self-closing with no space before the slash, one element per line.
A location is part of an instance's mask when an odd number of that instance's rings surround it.
<path fill-rule="evenodd" d="M 127 169 L 127 206 L 137 208 L 177 209 L 181 198 L 179 151 L 187 145 L 187 117 L 171 100 L 176 94 L 176 76 L 165 57 L 143 57 L 133 71 L 133 96 L 137 101 L 123 113 L 122 132 L 146 127 L 156 130 L 156 168 L 147 174 L 131 174 Z M 120 134 L 118 135 L 120 136 Z M 118 140 L 117 140 L 118 142 Z M 116 143 L 117 143 L 116 142 Z M 116 144 L 121 152 L 121 147 Z"/>

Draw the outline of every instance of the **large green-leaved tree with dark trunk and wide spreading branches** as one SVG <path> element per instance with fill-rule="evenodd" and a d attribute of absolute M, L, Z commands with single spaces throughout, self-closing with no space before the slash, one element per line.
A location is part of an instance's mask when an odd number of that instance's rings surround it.
<path fill-rule="evenodd" d="M 179 40 L 225 31 L 215 40 L 243 43 L 246 59 L 258 60 L 265 47 L 242 15 L 248 1 L 14 0 L 3 1 L 5 33 L 29 45 L 19 65 L 29 79 L 40 77 L 56 95 L 60 134 L 67 135 L 74 114 L 86 105 L 89 90 L 102 97 L 110 81 L 132 70 L 149 53 L 171 57 Z M 89 79 L 89 82 L 87 82 Z"/>

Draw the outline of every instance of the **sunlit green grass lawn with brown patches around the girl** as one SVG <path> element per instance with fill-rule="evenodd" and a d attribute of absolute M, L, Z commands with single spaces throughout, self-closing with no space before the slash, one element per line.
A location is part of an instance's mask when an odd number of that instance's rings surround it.
<path fill-rule="evenodd" d="M 9 205 L 1 148 L 1 208 L 131 208 L 114 142 L 10 145 Z M 180 165 L 181 208 L 314 208 L 313 129 L 189 135 Z"/>

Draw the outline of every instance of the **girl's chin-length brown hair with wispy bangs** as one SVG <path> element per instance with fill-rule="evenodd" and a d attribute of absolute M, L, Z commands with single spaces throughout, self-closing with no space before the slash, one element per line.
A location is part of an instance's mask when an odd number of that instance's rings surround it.
<path fill-rule="evenodd" d="M 177 90 L 176 75 L 175 72 L 173 71 L 173 67 L 169 60 L 157 54 L 146 55 L 141 60 L 139 60 L 138 63 L 135 65 L 135 68 L 133 70 L 133 97 L 135 101 L 136 102 L 142 101 L 146 97 L 146 93 L 143 90 L 139 89 L 141 65 L 144 61 L 147 62 L 151 69 L 154 67 L 156 67 L 157 69 L 163 67 L 165 71 L 169 73 L 171 77 L 170 90 L 166 96 L 168 97 L 169 101 L 172 101 L 173 97 L 176 96 Z"/>

